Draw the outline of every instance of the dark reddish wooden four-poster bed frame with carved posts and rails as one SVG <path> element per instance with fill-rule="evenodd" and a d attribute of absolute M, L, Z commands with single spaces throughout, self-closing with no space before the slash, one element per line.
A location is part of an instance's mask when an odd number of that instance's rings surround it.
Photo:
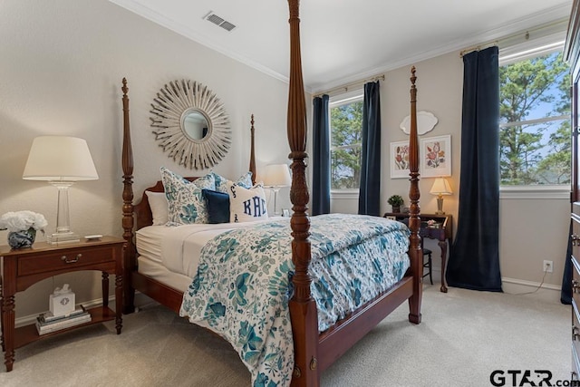
<path fill-rule="evenodd" d="M 309 265 L 312 259 L 311 219 L 307 216 L 309 195 L 306 187 L 306 115 L 304 105 L 304 84 L 302 79 L 302 64 L 300 54 L 299 34 L 299 1 L 288 0 L 290 10 L 291 34 L 291 65 L 288 95 L 287 136 L 292 160 L 292 187 L 290 198 L 294 214 L 290 220 L 292 229 L 292 262 L 295 274 L 292 276 L 294 293 L 288 302 L 294 342 L 294 372 L 292 385 L 319 385 L 320 372 L 345 353 L 354 343 L 367 334 L 376 324 L 390 314 L 405 301 L 409 301 L 409 320 L 413 324 L 420 323 L 420 303 L 422 292 L 422 254 L 419 236 L 419 146 L 416 124 L 416 88 L 415 70 L 411 70 L 411 135 L 410 135 L 410 210 L 409 228 L 411 236 L 408 256 L 409 269 L 402 278 L 386 290 L 376 295 L 372 300 L 355 309 L 323 333 L 319 333 L 317 305 L 311 293 L 312 278 L 309 275 Z M 150 200 L 143 193 L 140 204 L 133 206 L 132 173 L 133 158 L 131 150 L 131 133 L 129 121 L 129 98 L 127 82 L 123 79 L 123 112 L 124 131 L 122 146 L 123 169 L 123 237 L 127 241 L 125 254 L 124 280 L 124 312 L 133 311 L 134 291 L 139 290 L 154 300 L 179 312 L 184 300 L 183 290 L 178 286 L 168 285 L 151 276 L 140 273 L 138 253 L 134 242 L 134 228 L 152 223 Z M 256 176 L 252 120 L 252 155 L 250 169 Z M 194 178 L 189 178 L 193 180 Z M 163 185 L 159 181 L 154 187 L 146 189 L 162 192 Z M 135 227 L 136 226 L 136 227 Z"/>

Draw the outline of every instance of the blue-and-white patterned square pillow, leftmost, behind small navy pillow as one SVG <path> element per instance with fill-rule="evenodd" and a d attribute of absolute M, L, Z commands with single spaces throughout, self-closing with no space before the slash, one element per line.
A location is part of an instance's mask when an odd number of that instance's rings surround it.
<path fill-rule="evenodd" d="M 216 189 L 216 180 L 211 173 L 188 181 L 180 175 L 161 167 L 161 181 L 169 202 L 168 226 L 208 223 L 208 206 L 202 189 Z"/>

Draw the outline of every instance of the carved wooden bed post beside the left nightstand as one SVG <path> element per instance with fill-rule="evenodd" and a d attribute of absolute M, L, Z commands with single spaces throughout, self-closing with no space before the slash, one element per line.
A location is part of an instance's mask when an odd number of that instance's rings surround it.
<path fill-rule="evenodd" d="M 123 313 L 132 313 L 135 309 L 135 292 L 131 285 L 131 272 L 136 266 L 135 245 L 133 243 L 133 150 L 131 148 L 131 131 L 129 126 L 129 97 L 127 79 L 123 78 L 123 149 L 121 163 L 123 168 L 123 238 L 125 239 L 125 255 L 123 262 Z"/>

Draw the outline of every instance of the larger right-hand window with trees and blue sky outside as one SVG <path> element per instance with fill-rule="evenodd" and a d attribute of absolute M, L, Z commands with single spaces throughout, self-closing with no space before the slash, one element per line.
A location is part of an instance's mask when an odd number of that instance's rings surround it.
<path fill-rule="evenodd" d="M 520 56 L 499 68 L 502 186 L 569 186 L 569 85 L 562 44 L 556 51 L 553 48 L 533 57 Z"/>

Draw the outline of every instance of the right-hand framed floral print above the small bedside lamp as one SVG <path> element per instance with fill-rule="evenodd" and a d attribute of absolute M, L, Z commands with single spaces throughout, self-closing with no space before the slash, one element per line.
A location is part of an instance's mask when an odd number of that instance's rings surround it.
<path fill-rule="evenodd" d="M 420 176 L 451 176 L 451 135 L 420 139 Z"/>

